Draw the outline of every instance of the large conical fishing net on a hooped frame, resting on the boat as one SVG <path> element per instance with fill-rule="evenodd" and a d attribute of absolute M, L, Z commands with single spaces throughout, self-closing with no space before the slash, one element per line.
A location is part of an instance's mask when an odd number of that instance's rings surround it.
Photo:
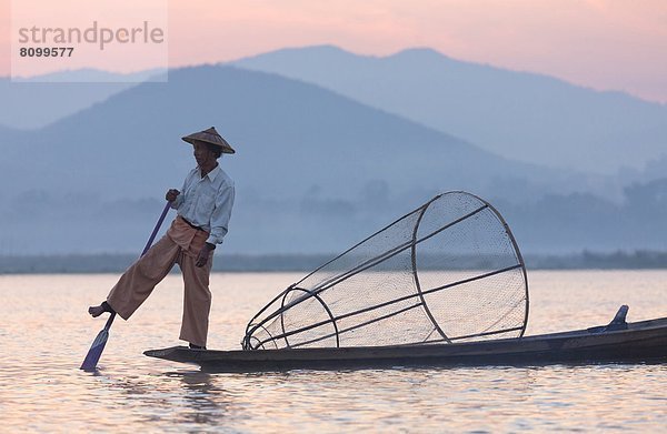
<path fill-rule="evenodd" d="M 517 337 L 524 261 L 505 220 L 438 195 L 290 285 L 248 324 L 243 349 L 416 345 Z"/>

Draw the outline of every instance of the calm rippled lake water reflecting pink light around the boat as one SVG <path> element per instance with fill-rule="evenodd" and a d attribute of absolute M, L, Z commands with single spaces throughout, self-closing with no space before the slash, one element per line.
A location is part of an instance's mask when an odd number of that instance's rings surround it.
<path fill-rule="evenodd" d="M 301 273 L 215 274 L 209 347 Z M 116 275 L 0 276 L 0 432 L 667 432 L 667 364 L 208 374 L 143 356 L 179 344 L 170 275 L 79 371 Z M 529 272 L 527 334 L 667 316 L 667 271 Z"/>

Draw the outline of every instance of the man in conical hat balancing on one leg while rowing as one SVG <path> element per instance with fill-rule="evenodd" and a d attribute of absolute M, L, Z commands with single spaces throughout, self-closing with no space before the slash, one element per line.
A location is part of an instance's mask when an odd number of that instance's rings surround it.
<path fill-rule="evenodd" d="M 236 151 L 212 127 L 182 140 L 195 148 L 197 168 L 188 173 L 181 191 L 171 189 L 166 194 L 178 215 L 165 236 L 123 273 L 107 300 L 88 312 L 93 317 L 117 312 L 127 321 L 177 263 L 185 282 L 179 339 L 191 349 L 206 350 L 213 250 L 227 234 L 235 199 L 233 181 L 218 159 Z"/>

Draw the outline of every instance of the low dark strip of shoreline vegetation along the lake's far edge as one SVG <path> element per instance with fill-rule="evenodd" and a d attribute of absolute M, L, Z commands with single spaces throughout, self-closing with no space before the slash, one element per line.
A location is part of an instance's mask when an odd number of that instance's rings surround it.
<path fill-rule="evenodd" d="M 221 254 L 213 272 L 310 272 L 335 254 Z M 667 251 L 525 254 L 528 270 L 666 270 Z M 133 254 L 0 255 L 0 274 L 122 273 Z M 475 268 L 475 266 L 472 266 Z M 178 270 L 178 266 L 175 266 Z"/>

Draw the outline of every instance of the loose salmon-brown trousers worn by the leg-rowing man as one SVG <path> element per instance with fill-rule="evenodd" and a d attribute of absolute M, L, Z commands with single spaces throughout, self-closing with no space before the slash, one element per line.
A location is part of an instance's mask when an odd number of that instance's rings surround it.
<path fill-rule="evenodd" d="M 208 286 L 213 252 L 205 266 L 195 266 L 195 262 L 208 235 L 177 216 L 165 236 L 123 273 L 111 289 L 107 303 L 127 321 L 169 274 L 173 264 L 178 264 L 186 287 L 179 339 L 206 346 L 212 299 Z"/>

